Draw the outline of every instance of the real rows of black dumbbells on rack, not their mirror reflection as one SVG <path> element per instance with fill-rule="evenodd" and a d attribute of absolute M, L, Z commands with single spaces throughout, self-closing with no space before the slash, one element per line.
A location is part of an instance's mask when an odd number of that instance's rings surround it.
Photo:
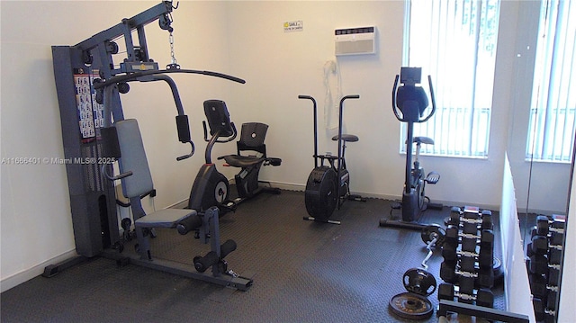
<path fill-rule="evenodd" d="M 454 207 L 442 248 L 438 299 L 493 307 L 494 232 L 491 211 Z"/>

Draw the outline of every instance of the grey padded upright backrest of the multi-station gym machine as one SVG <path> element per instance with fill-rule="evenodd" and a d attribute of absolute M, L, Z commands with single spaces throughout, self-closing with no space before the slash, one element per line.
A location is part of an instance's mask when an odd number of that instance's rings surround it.
<path fill-rule="evenodd" d="M 143 195 L 154 189 L 152 175 L 148 168 L 148 159 L 140 136 L 138 121 L 126 119 L 114 123 L 118 132 L 121 157 L 118 160 L 120 172 L 132 172 L 121 179 L 122 193 L 131 198 Z"/>

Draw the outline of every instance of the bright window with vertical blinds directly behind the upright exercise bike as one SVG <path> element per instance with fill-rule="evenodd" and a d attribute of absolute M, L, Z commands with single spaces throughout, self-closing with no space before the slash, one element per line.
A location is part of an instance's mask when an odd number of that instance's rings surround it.
<path fill-rule="evenodd" d="M 500 16 L 499 0 L 407 0 L 404 66 L 432 77 L 437 111 L 414 135 L 435 140 L 421 152 L 487 157 Z M 401 131 L 405 152 L 406 131 Z"/>

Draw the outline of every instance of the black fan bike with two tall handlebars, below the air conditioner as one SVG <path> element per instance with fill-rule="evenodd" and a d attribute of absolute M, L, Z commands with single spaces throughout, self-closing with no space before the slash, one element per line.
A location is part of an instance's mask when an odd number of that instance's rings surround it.
<path fill-rule="evenodd" d="M 338 156 L 333 156 L 329 153 L 318 155 L 318 112 L 316 100 L 310 95 L 298 95 L 298 98 L 311 100 L 314 107 L 314 169 L 308 176 L 304 194 L 306 211 L 308 211 L 310 217 L 304 217 L 303 219 L 340 224 L 339 220 L 329 220 L 337 207 L 340 210 L 342 204 L 347 200 L 366 202 L 364 197 L 350 193 L 350 173 L 347 170 L 344 157 L 346 143 L 356 142 L 358 137 L 342 134 L 344 101 L 347 99 L 359 99 L 360 95 L 347 95 L 340 100 L 338 135 L 332 137 L 332 140 L 338 141 Z M 324 165 L 325 161 L 328 161 L 329 165 Z"/>

